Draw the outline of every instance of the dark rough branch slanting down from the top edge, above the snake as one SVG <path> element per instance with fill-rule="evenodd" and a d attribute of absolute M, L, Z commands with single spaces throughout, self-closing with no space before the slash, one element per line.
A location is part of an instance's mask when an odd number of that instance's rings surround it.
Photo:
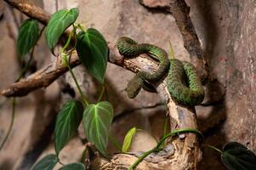
<path fill-rule="evenodd" d="M 183 37 L 184 47 L 190 54 L 191 63 L 196 66 L 202 82 L 206 82 L 209 75 L 206 54 L 196 35 L 196 29 L 190 17 L 190 8 L 185 0 L 140 0 L 139 2 L 146 8 L 160 9 L 163 13 L 173 14 Z"/>

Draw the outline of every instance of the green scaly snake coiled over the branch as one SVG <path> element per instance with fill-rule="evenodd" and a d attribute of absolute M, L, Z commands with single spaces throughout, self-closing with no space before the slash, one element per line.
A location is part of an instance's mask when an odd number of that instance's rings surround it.
<path fill-rule="evenodd" d="M 128 97 L 133 99 L 144 88 L 154 91 L 150 83 L 157 82 L 168 72 L 167 85 L 172 98 L 181 105 L 200 105 L 204 98 L 204 89 L 196 68 L 189 62 L 179 59 L 168 59 L 168 54 L 162 49 L 148 43 L 138 44 L 129 37 L 120 37 L 117 40 L 119 53 L 127 57 L 150 54 L 159 60 L 159 67 L 154 73 L 140 71 L 128 82 Z"/>

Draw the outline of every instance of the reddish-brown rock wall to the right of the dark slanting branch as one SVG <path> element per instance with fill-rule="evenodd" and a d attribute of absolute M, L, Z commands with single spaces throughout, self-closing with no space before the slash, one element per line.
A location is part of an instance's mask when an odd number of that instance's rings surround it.
<path fill-rule="evenodd" d="M 212 106 L 212 114 L 198 116 L 199 125 L 204 126 L 220 117 L 220 122 L 206 133 L 206 142 L 222 148 L 226 142 L 237 141 L 255 153 L 256 51 L 253 38 L 256 2 L 189 0 L 187 3 L 208 54 L 212 77 L 225 89 L 224 101 Z M 201 117 L 204 117 L 202 123 Z M 225 169 L 219 163 L 218 153 L 209 149 L 203 151 L 201 169 Z"/>

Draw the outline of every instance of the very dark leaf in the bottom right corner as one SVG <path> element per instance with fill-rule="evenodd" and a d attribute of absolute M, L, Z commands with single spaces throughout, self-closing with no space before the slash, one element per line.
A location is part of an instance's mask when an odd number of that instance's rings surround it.
<path fill-rule="evenodd" d="M 230 170 L 255 170 L 256 156 L 246 146 L 237 142 L 225 144 L 221 160 Z"/>

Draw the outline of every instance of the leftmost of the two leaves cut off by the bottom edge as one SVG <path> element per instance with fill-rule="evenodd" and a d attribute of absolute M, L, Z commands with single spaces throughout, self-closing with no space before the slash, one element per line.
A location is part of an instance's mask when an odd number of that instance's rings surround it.
<path fill-rule="evenodd" d="M 38 161 L 31 170 L 52 170 L 58 161 L 57 156 L 50 154 L 48 156 L 44 156 L 42 160 Z"/>

